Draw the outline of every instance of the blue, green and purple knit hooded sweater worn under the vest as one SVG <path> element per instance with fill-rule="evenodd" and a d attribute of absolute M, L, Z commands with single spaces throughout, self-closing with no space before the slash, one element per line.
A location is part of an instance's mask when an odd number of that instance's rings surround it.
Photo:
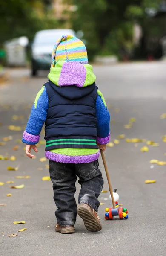
<path fill-rule="evenodd" d="M 89 64 L 73 63 L 74 69 L 67 84 L 66 73 L 69 72 L 69 64 L 66 61 L 58 61 L 55 67 L 51 67 L 48 78 L 57 86 L 75 85 L 85 87 L 94 83 L 96 76 L 93 73 L 92 66 Z M 71 68 L 70 63 L 70 68 Z M 79 70 L 80 69 L 80 70 Z M 96 117 L 97 117 L 97 143 L 106 144 L 109 142 L 109 111 L 106 107 L 105 99 L 98 90 L 96 100 Z M 47 118 L 49 107 L 48 95 L 45 86 L 37 93 L 34 105 L 31 109 L 31 115 L 23 133 L 23 143 L 37 144 L 40 140 L 40 132 Z M 77 142 L 78 143 L 78 142 Z M 98 159 L 99 149 L 91 148 L 56 148 L 46 151 L 46 158 L 60 163 L 90 163 Z"/>

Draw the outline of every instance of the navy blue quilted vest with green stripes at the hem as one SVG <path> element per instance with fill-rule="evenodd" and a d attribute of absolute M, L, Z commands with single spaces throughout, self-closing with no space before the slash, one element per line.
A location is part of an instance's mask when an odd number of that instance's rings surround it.
<path fill-rule="evenodd" d="M 46 151 L 55 148 L 96 148 L 95 83 L 87 87 L 46 84 L 49 108 L 45 122 Z"/>

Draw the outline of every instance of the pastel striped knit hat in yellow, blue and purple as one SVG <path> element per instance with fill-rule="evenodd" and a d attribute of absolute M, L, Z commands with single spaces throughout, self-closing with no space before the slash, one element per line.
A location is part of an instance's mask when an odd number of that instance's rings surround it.
<path fill-rule="evenodd" d="M 63 35 L 54 45 L 52 67 L 58 61 L 77 61 L 81 64 L 88 64 L 86 47 L 83 42 L 73 35 Z"/>

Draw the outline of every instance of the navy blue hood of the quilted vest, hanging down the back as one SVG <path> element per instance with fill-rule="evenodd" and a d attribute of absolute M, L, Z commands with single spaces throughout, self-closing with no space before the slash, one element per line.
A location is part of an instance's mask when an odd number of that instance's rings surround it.
<path fill-rule="evenodd" d="M 50 80 L 49 80 L 49 84 L 57 93 L 59 93 L 61 96 L 63 96 L 66 99 L 81 99 L 84 96 L 91 93 L 95 88 L 95 82 L 90 86 L 86 86 L 82 88 L 76 87 L 75 85 L 60 87 L 60 86 L 56 86 Z"/>

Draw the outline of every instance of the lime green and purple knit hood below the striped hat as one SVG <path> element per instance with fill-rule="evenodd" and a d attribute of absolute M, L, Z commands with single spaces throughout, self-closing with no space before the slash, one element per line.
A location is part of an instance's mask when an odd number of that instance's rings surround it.
<path fill-rule="evenodd" d="M 96 76 L 89 64 L 80 64 L 76 61 L 58 61 L 50 68 L 49 80 L 58 87 L 88 87 L 94 83 Z"/>

